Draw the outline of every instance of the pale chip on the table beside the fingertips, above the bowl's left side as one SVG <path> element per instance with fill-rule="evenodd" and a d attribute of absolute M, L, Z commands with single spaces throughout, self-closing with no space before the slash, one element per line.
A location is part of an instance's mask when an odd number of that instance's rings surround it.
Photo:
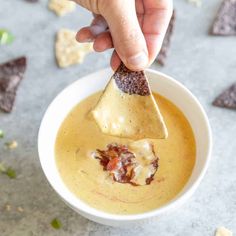
<path fill-rule="evenodd" d="M 57 33 L 56 59 L 61 68 L 82 63 L 85 56 L 93 51 L 93 43 L 79 43 L 75 35 L 75 31 L 68 29 L 61 29 Z"/>

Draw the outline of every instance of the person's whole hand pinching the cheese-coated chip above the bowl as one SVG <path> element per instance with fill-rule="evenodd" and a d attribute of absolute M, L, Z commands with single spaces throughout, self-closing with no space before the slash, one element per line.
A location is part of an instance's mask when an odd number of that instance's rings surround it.
<path fill-rule="evenodd" d="M 79 30 L 79 42 L 94 42 L 102 52 L 114 47 L 111 67 L 121 60 L 131 70 L 148 67 L 160 51 L 173 11 L 172 0 L 74 0 L 94 15 Z"/>

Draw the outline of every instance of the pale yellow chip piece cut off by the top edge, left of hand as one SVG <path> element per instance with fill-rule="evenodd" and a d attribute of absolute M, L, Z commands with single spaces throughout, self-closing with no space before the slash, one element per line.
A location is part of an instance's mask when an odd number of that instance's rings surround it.
<path fill-rule="evenodd" d="M 76 3 L 70 0 L 49 0 L 48 8 L 54 11 L 58 16 L 75 10 Z"/>

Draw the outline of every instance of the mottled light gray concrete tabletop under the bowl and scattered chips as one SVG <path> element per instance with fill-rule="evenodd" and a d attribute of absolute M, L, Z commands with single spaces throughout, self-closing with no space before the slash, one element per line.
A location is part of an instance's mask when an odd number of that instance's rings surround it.
<path fill-rule="evenodd" d="M 48 104 L 66 85 L 109 65 L 110 52 L 91 54 L 84 64 L 59 69 L 54 60 L 54 37 L 61 27 L 78 29 L 90 14 L 78 8 L 58 18 L 48 11 L 47 1 L 24 0 L 0 3 L 0 28 L 16 36 L 12 45 L 0 47 L 0 62 L 26 55 L 28 69 L 11 114 L 0 113 L 0 161 L 15 168 L 17 178 L 0 175 L 0 235 L 159 235 L 212 236 L 221 225 L 236 233 L 236 111 L 211 105 L 214 97 L 236 81 L 236 38 L 211 37 L 208 29 L 220 0 L 203 1 L 196 8 L 176 0 L 177 24 L 171 52 L 163 71 L 186 85 L 209 116 L 214 149 L 207 174 L 194 197 L 181 209 L 149 224 L 130 229 L 102 226 L 77 215 L 48 185 L 37 155 L 37 132 Z M 3 143 L 17 140 L 19 147 L 6 150 Z M 10 204 L 7 211 L 5 205 Z M 24 212 L 16 208 L 21 206 Z M 58 217 L 60 230 L 50 226 Z"/>

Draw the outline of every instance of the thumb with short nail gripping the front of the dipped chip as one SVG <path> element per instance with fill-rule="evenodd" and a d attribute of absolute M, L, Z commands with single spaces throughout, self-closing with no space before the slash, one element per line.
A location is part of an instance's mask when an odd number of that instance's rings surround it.
<path fill-rule="evenodd" d="M 135 0 L 110 0 L 101 13 L 120 59 L 131 70 L 143 70 L 149 63 L 148 50 L 136 15 Z"/>

